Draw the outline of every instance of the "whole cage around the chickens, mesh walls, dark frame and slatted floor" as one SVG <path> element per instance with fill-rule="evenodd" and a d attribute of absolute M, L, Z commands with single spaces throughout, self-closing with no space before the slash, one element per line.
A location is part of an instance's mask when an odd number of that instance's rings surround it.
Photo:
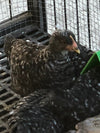
<path fill-rule="evenodd" d="M 56 29 L 69 29 L 82 45 L 100 49 L 100 0 L 1 0 L 0 1 L 0 132 L 8 133 L 9 111 L 20 99 L 10 89 L 10 68 L 3 50 L 4 37 L 47 44 Z"/>

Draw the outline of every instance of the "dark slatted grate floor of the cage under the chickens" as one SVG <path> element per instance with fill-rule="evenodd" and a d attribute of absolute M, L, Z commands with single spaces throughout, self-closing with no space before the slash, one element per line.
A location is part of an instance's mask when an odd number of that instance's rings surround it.
<path fill-rule="evenodd" d="M 33 25 L 13 32 L 13 35 L 38 44 L 47 44 L 49 41 L 49 35 Z M 11 117 L 10 111 L 21 98 L 10 89 L 10 86 L 10 68 L 3 47 L 0 47 L 0 133 L 10 133 L 8 131 L 7 119 Z"/>

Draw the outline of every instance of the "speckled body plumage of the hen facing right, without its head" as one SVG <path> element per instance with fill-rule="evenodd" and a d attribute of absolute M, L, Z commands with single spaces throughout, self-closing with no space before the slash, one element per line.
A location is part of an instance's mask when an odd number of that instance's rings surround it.
<path fill-rule="evenodd" d="M 8 39 L 9 45 L 10 41 Z M 87 61 L 75 53 L 53 52 L 50 45 L 37 45 L 22 39 L 11 42 L 8 59 L 12 89 L 21 96 L 36 89 L 62 88 L 62 91 L 66 91 L 73 86 Z M 80 47 L 83 51 L 84 47 Z M 84 53 L 88 58 L 86 50 Z"/>

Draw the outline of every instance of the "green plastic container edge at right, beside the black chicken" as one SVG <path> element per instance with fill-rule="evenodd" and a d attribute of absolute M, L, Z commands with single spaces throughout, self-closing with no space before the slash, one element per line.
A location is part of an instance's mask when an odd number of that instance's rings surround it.
<path fill-rule="evenodd" d="M 81 75 L 86 73 L 88 70 L 90 70 L 93 67 L 100 65 L 100 51 L 95 52 L 91 58 L 88 60 L 87 64 L 81 71 Z"/>

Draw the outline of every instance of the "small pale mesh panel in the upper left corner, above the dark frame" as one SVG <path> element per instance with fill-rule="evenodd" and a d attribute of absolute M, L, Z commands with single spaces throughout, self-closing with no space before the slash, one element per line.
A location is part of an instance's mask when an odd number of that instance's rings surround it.
<path fill-rule="evenodd" d="M 0 1 L 0 22 L 11 19 L 27 11 L 26 0 L 1 0 Z"/>

